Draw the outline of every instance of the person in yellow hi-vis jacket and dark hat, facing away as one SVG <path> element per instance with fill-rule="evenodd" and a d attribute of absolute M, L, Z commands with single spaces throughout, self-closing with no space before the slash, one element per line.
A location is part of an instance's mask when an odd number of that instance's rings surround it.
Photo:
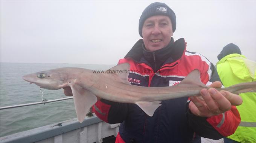
<path fill-rule="evenodd" d="M 256 81 L 256 62 L 248 60 L 238 46 L 226 45 L 218 55 L 217 72 L 225 87 Z M 256 92 L 239 94 L 243 103 L 237 106 L 241 123 L 236 132 L 224 138 L 224 143 L 256 143 Z"/>

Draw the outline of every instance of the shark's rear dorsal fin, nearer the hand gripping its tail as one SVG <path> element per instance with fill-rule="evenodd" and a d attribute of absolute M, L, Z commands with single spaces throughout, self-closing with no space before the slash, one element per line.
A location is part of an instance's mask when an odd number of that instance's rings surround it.
<path fill-rule="evenodd" d="M 201 82 L 200 72 L 198 69 L 195 69 L 189 74 L 187 74 L 187 76 L 178 85 L 180 85 L 181 83 L 187 83 L 187 84 L 190 83 L 190 84 L 196 84 L 203 87 L 207 87 L 203 82 Z"/>

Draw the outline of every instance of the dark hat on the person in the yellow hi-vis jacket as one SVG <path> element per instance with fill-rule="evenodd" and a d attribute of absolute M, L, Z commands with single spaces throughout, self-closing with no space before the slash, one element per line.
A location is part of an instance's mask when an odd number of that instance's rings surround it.
<path fill-rule="evenodd" d="M 236 46 L 233 43 L 230 43 L 222 49 L 221 53 L 217 56 L 217 58 L 218 58 L 218 60 L 221 60 L 223 57 L 225 57 L 226 55 L 230 55 L 230 54 L 240 54 L 241 55 L 242 53 L 238 46 Z"/>

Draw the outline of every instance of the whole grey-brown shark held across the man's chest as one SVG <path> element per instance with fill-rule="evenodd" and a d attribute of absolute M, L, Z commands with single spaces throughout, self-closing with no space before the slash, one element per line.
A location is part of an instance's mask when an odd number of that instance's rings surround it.
<path fill-rule="evenodd" d="M 87 111 L 97 102 L 97 97 L 119 102 L 137 104 L 147 115 L 153 116 L 162 100 L 200 95 L 208 86 L 200 80 L 200 72 L 195 69 L 179 84 L 167 87 L 144 87 L 131 85 L 128 81 L 130 64 L 123 63 L 103 73 L 93 70 L 66 67 L 27 74 L 22 78 L 35 83 L 40 88 L 58 90 L 70 86 L 75 103 L 76 115 L 83 122 Z M 117 71 L 110 73 L 110 71 Z M 118 72 L 119 71 L 119 72 Z M 227 88 L 216 88 L 234 94 L 256 92 L 256 82 L 247 82 Z"/>

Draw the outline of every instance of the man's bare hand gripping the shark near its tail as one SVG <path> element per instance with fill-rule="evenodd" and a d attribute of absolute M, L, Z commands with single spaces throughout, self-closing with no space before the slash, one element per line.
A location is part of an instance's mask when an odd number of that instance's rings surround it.
<path fill-rule="evenodd" d="M 210 87 L 212 88 L 208 90 L 202 89 L 200 97 L 189 97 L 192 101 L 189 103 L 189 109 L 194 115 L 210 117 L 230 110 L 232 105 L 242 104 L 242 98 L 239 95 L 215 89 L 221 87 L 221 82 L 213 82 Z"/>

